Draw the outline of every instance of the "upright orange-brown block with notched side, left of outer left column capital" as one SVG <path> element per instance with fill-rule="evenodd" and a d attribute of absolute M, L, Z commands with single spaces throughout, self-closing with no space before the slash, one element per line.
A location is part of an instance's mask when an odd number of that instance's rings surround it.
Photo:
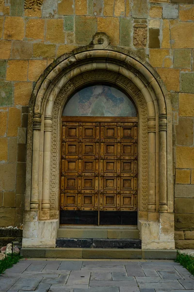
<path fill-rule="evenodd" d="M 21 127 L 21 110 L 9 108 L 7 136 L 17 137 L 18 127 Z"/>

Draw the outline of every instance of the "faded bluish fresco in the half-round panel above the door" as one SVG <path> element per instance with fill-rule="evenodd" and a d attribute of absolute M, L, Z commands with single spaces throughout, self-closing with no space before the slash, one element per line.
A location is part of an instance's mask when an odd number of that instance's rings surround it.
<path fill-rule="evenodd" d="M 106 85 L 81 89 L 67 102 L 64 116 L 136 117 L 129 97 L 122 91 Z"/>

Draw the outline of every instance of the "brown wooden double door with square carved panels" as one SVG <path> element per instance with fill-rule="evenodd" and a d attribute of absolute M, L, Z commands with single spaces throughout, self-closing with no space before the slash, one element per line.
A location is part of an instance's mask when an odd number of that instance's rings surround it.
<path fill-rule="evenodd" d="M 137 125 L 137 118 L 62 118 L 61 224 L 136 224 Z"/>

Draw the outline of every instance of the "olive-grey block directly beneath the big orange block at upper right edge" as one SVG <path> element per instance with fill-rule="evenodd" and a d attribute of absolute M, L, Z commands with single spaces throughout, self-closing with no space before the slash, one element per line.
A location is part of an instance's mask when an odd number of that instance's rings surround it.
<path fill-rule="evenodd" d="M 191 50 L 175 50 L 174 68 L 191 68 Z"/>

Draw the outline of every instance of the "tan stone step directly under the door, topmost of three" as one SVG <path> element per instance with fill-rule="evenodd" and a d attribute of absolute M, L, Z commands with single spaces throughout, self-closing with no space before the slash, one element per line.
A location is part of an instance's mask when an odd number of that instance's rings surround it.
<path fill-rule="evenodd" d="M 65 238 L 128 238 L 140 239 L 137 228 L 69 228 L 60 227 L 57 237 Z"/>

